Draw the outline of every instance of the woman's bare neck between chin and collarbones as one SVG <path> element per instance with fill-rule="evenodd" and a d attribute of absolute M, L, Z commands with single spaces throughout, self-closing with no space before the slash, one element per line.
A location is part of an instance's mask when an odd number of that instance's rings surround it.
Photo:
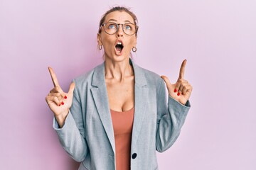
<path fill-rule="evenodd" d="M 105 79 L 114 79 L 122 82 L 125 77 L 133 75 L 134 71 L 132 66 L 129 64 L 129 58 L 122 62 L 114 62 L 108 59 L 105 60 Z"/>

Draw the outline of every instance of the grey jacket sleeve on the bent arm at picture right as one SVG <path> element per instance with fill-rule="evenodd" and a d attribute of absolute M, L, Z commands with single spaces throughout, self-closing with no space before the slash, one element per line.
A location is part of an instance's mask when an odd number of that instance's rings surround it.
<path fill-rule="evenodd" d="M 158 152 L 164 152 L 178 138 L 190 108 L 190 103 L 187 101 L 184 106 L 174 98 L 171 98 L 171 96 L 168 96 L 168 103 L 166 105 L 166 85 L 163 79 L 161 79 L 156 99 L 156 150 Z"/>

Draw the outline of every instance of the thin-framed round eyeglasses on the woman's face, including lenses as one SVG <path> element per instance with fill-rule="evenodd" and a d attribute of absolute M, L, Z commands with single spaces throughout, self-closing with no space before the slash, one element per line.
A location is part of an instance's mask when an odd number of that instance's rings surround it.
<path fill-rule="evenodd" d="M 103 23 L 100 26 L 100 29 L 103 27 L 105 33 L 112 35 L 117 33 L 117 30 L 119 29 L 119 25 L 122 25 L 122 30 L 126 35 L 134 35 L 134 33 L 137 33 L 137 30 L 139 26 L 135 26 L 133 23 Z M 100 30 L 99 29 L 99 30 Z M 100 32 L 100 31 L 99 31 Z"/>

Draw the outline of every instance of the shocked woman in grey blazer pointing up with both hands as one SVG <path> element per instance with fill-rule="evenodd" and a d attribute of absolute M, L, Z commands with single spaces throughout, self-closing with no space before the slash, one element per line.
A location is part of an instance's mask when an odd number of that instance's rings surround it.
<path fill-rule="evenodd" d="M 137 30 L 127 8 L 107 11 L 97 35 L 105 62 L 74 79 L 68 93 L 49 67 L 53 128 L 65 151 L 82 162 L 79 169 L 158 169 L 156 150 L 169 149 L 180 133 L 192 91 L 183 79 L 186 60 L 176 84 L 137 66 L 129 57 L 137 50 Z"/>

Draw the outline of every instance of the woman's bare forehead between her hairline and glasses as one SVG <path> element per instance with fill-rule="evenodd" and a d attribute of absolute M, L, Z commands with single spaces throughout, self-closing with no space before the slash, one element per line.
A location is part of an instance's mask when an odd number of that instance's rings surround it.
<path fill-rule="evenodd" d="M 131 22 L 134 23 L 134 19 L 132 16 L 129 15 L 127 12 L 120 12 L 120 11 L 114 11 L 112 13 L 107 14 L 105 18 L 105 22 L 110 21 L 110 20 L 116 20 L 117 23 L 124 23 L 124 22 Z"/>

